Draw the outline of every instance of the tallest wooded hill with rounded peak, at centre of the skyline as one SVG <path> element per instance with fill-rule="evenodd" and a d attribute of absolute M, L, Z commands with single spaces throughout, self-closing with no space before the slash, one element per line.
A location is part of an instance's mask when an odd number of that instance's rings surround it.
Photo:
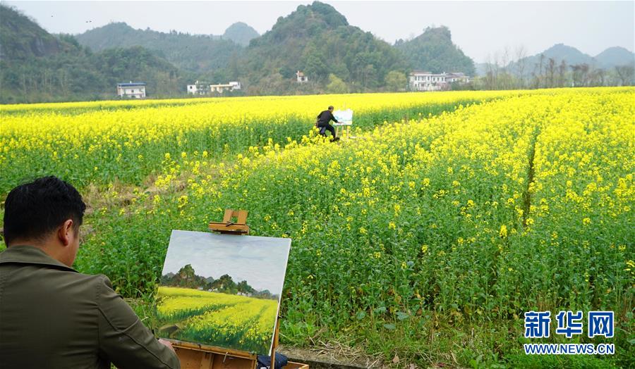
<path fill-rule="evenodd" d="M 252 39 L 243 58 L 226 70 L 226 79 L 241 77 L 250 94 L 322 92 L 335 75 L 351 92 L 382 87 L 391 70 L 406 63 L 387 42 L 363 32 L 332 6 L 315 1 L 278 18 L 272 29 Z M 309 83 L 298 84 L 296 71 Z"/>

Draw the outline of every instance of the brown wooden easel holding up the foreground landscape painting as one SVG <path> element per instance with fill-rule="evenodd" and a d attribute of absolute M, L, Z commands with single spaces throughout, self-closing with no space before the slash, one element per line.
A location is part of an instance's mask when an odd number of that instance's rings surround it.
<path fill-rule="evenodd" d="M 246 210 L 225 209 L 222 222 L 210 222 L 212 232 L 222 234 L 249 234 Z M 235 220 L 234 220 L 235 219 Z M 279 317 L 276 318 L 276 329 L 271 347 L 271 369 L 275 368 L 275 356 L 278 346 Z M 193 344 L 191 342 L 168 339 L 172 343 L 176 355 L 179 356 L 182 369 L 260 369 L 258 368 L 258 354 L 255 352 L 224 349 L 217 346 Z M 292 363 L 279 369 L 309 369 L 309 365 Z"/>

